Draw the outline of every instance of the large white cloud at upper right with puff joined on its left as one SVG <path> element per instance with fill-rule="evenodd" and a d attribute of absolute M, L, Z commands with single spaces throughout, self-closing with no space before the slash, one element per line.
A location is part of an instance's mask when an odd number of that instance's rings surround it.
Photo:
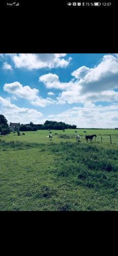
<path fill-rule="evenodd" d="M 87 101 L 118 100 L 118 55 L 105 55 L 94 68 L 85 66 L 72 72 L 75 79 L 60 82 L 56 74 L 45 74 L 39 77 L 46 88 L 62 90 L 57 97 L 58 104 L 85 103 Z"/>

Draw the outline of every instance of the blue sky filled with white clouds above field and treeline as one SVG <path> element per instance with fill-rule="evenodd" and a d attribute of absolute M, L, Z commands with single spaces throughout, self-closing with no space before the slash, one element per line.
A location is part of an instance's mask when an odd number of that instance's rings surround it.
<path fill-rule="evenodd" d="M 0 54 L 8 122 L 118 127 L 118 54 Z"/>

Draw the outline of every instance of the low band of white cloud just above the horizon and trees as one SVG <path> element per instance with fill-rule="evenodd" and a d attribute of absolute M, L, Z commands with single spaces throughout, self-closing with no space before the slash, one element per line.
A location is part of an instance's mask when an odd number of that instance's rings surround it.
<path fill-rule="evenodd" d="M 43 123 L 47 118 L 34 109 L 19 108 L 11 103 L 10 98 L 0 96 L 1 113 L 5 115 L 8 122 Z M 49 115 L 48 118 L 56 121 L 63 121 L 69 124 L 76 124 L 77 127 L 93 128 L 114 128 L 118 126 L 118 104 L 109 106 L 95 105 L 86 102 L 83 106 L 74 107 L 57 115 Z"/>

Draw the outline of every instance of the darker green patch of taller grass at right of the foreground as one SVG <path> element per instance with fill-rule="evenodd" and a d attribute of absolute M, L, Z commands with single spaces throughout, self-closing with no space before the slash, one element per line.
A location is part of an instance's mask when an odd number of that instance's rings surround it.
<path fill-rule="evenodd" d="M 95 145 L 60 143 L 52 151 L 57 155 L 60 153 L 56 163 L 58 177 L 89 188 L 118 188 L 117 150 L 98 148 Z"/>

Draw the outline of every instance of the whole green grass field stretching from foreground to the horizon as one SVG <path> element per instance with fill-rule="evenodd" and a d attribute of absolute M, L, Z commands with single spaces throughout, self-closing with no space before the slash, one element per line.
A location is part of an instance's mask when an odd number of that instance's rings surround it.
<path fill-rule="evenodd" d="M 0 210 L 118 210 L 118 130 L 77 131 L 0 137 Z"/>

